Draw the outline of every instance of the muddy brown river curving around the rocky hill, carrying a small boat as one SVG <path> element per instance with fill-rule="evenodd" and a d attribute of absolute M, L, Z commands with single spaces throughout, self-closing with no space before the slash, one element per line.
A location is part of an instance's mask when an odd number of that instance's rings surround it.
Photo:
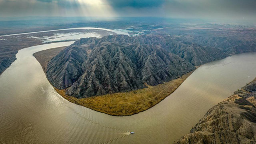
<path fill-rule="evenodd" d="M 72 43 L 19 50 L 17 60 L 2 73 L 0 143 L 170 144 L 209 108 L 256 77 L 256 53 L 234 55 L 200 66 L 174 93 L 144 112 L 110 116 L 62 98 L 32 56 Z"/>

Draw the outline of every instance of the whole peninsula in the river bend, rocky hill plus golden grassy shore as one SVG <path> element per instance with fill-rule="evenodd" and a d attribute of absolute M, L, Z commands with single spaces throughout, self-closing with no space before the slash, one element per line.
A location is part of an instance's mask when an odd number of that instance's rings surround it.
<path fill-rule="evenodd" d="M 229 42 L 228 38 L 219 39 L 222 45 Z M 34 56 L 52 86 L 70 102 L 110 115 L 128 116 L 169 96 L 196 66 L 255 50 L 254 46 L 243 49 L 236 43 L 222 49 L 209 46 L 216 38 L 204 44 L 196 38 L 184 40 L 166 35 L 81 38 L 64 49 Z"/>

